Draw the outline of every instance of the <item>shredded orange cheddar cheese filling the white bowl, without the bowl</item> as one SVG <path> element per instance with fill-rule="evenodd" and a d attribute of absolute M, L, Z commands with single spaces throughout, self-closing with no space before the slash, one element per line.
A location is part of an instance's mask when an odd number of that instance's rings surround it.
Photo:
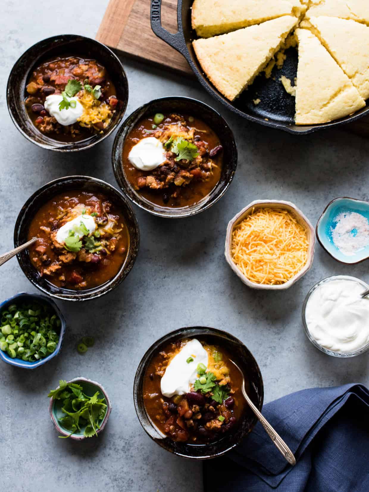
<path fill-rule="evenodd" d="M 306 230 L 285 209 L 252 209 L 232 233 L 232 259 L 252 282 L 278 285 L 306 264 Z"/>

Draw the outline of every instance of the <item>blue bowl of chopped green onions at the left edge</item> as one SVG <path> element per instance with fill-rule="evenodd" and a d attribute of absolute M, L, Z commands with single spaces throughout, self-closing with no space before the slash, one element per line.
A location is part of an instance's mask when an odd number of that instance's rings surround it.
<path fill-rule="evenodd" d="M 35 369 L 59 354 L 65 319 L 41 294 L 21 292 L 0 304 L 0 358 L 12 366 Z"/>

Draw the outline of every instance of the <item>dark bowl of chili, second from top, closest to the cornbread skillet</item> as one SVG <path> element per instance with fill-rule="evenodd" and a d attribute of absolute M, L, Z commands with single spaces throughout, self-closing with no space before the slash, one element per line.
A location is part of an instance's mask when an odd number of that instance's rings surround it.
<path fill-rule="evenodd" d="M 161 163 L 143 170 L 133 165 L 131 151 L 147 137 L 160 147 Z M 112 162 L 118 184 L 136 205 L 179 218 L 203 212 L 225 193 L 236 171 L 237 146 L 228 123 L 213 108 L 170 96 L 144 104 L 125 120 L 114 140 Z"/>

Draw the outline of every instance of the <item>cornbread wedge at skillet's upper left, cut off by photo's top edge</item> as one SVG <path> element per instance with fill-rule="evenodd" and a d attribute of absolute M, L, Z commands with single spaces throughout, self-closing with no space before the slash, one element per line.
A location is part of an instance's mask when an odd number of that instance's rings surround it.
<path fill-rule="evenodd" d="M 192 29 L 199 37 L 211 37 L 282 15 L 299 17 L 305 10 L 300 0 L 194 0 Z"/>

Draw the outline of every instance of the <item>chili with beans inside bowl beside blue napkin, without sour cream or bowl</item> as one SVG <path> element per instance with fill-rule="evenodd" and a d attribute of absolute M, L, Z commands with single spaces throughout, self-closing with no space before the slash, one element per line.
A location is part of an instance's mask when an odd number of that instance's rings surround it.
<path fill-rule="evenodd" d="M 242 377 L 230 362 L 226 350 L 200 339 L 209 354 L 208 370 L 215 374 L 216 384 L 226 390 L 224 400 L 215 401 L 215 389 L 204 394 L 191 388 L 185 395 L 164 397 L 160 391 L 161 377 L 171 359 L 187 341 L 170 343 L 154 356 L 144 375 L 144 403 L 155 426 L 174 441 L 207 444 L 234 430 L 239 423 L 245 409 L 241 393 Z M 198 376 L 201 377 L 200 374 Z M 246 390 L 247 387 L 248 381 Z"/>

